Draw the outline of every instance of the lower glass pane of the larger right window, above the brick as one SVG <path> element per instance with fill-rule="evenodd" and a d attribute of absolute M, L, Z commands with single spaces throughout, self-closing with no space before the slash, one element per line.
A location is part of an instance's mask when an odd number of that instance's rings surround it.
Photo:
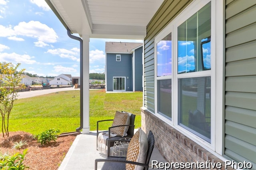
<path fill-rule="evenodd" d="M 178 79 L 178 85 L 179 125 L 210 142 L 210 76 Z"/>

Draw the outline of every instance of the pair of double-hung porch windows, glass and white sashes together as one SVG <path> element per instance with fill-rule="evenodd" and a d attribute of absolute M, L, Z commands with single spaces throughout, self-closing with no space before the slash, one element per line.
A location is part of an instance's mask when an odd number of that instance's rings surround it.
<path fill-rule="evenodd" d="M 212 6 L 210 0 L 199 2 L 155 38 L 155 113 L 210 146 Z"/>

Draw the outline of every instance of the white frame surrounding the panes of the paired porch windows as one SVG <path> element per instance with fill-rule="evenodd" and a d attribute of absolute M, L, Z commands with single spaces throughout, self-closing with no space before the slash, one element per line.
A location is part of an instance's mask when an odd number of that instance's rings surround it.
<path fill-rule="evenodd" d="M 193 14 L 211 2 L 211 70 L 178 74 L 178 26 Z M 217 19 L 216 19 L 217 18 Z M 224 57 L 224 3 L 219 0 L 194 0 L 186 7 L 154 40 L 155 63 L 155 115 L 176 128 L 201 146 L 222 155 L 223 152 L 223 57 Z M 218 28 L 218 29 L 216 29 Z M 220 29 L 223 28 L 223 29 Z M 172 121 L 157 113 L 157 80 L 168 79 L 157 77 L 157 43 L 172 32 Z M 218 42 L 218 44 L 216 43 Z M 216 78 L 218 75 L 218 79 Z M 196 136 L 178 125 L 178 78 L 211 76 L 211 143 Z M 215 121 L 218 120 L 218 121 Z M 218 135 L 217 135 L 218 133 Z M 221 133 L 221 134 L 220 134 Z"/>

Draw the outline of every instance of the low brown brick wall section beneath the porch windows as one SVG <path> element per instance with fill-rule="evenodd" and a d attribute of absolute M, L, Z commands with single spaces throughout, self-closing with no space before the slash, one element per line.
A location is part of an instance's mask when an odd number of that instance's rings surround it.
<path fill-rule="evenodd" d="M 222 170 L 225 169 L 225 162 L 143 108 L 141 108 L 141 121 L 142 130 L 153 132 L 155 146 L 168 162 L 185 163 L 210 160 L 211 162 L 221 162 Z"/>

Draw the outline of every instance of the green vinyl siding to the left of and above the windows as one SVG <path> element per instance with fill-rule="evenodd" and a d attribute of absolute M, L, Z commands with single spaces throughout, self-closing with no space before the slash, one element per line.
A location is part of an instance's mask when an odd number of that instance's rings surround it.
<path fill-rule="evenodd" d="M 164 0 L 147 26 L 144 40 L 144 103 L 154 112 L 154 38 L 176 17 L 192 0 Z"/>

